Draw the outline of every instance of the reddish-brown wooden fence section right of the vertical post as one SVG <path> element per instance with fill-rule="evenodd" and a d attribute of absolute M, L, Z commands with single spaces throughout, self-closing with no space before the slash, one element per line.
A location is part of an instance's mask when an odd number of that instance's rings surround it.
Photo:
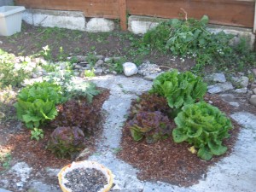
<path fill-rule="evenodd" d="M 253 27 L 254 0 L 127 0 L 126 6 L 131 15 L 179 18 L 185 9 L 188 17 L 208 15 L 214 24 Z"/>

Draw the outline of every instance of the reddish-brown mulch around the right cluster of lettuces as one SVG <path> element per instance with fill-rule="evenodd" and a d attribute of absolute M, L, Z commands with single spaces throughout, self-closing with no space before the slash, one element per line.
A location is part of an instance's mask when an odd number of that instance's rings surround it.
<path fill-rule="evenodd" d="M 230 114 L 230 105 L 218 96 L 207 95 L 205 100 L 211 101 L 212 105 L 227 115 Z M 199 179 L 207 177 L 209 166 L 213 166 L 232 152 L 239 132 L 236 122 L 233 121 L 232 124 L 234 129 L 230 131 L 230 138 L 224 140 L 224 145 L 229 148 L 228 152 L 214 156 L 209 161 L 201 160 L 196 154 L 190 153 L 188 148 L 191 146 L 188 143 L 174 143 L 172 137 L 153 144 L 148 144 L 145 140 L 135 142 L 127 127 L 123 129 L 122 150 L 118 156 L 140 170 L 139 179 L 188 187 L 198 183 Z"/>

